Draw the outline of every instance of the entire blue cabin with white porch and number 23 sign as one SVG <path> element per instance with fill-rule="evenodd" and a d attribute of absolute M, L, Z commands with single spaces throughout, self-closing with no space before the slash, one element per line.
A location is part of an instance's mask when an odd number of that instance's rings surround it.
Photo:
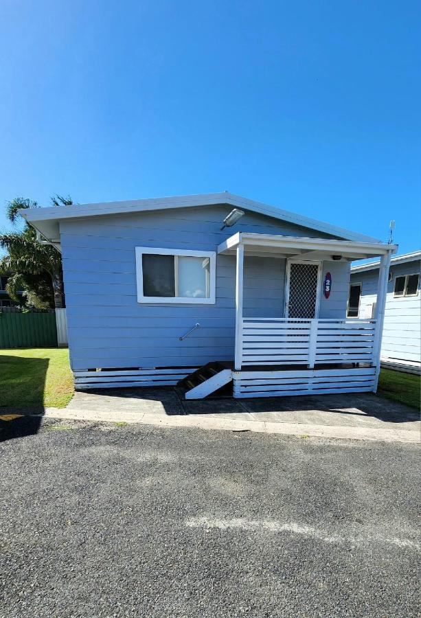
<path fill-rule="evenodd" d="M 383 303 L 347 319 L 350 262 L 380 255 L 381 290 L 394 247 L 227 193 L 23 215 L 62 252 L 78 388 L 376 389 Z"/>

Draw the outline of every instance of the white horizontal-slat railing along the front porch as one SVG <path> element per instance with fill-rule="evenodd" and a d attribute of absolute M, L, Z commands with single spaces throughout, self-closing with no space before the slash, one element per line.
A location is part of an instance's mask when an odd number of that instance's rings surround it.
<path fill-rule="evenodd" d="M 244 318 L 242 365 L 373 363 L 376 320 Z"/>

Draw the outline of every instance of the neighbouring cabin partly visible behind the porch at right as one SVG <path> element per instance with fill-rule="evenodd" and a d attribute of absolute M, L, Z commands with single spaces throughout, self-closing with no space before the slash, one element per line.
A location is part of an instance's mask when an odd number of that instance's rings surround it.
<path fill-rule="evenodd" d="M 348 316 L 367 319 L 376 309 L 378 262 L 351 268 Z M 391 259 L 385 322 L 380 349 L 382 365 L 421 373 L 421 251 Z"/>

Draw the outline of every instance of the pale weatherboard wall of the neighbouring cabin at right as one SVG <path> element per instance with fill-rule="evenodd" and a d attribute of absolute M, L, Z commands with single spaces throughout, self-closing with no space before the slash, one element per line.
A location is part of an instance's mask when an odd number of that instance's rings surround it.
<path fill-rule="evenodd" d="M 385 323 L 380 355 L 383 358 L 396 358 L 402 361 L 421 361 L 421 290 L 418 296 L 394 297 L 396 277 L 420 272 L 420 261 L 404 264 L 391 264 L 392 280 L 387 284 Z M 376 302 L 378 269 L 362 273 L 352 273 L 351 283 L 361 283 L 361 303 L 359 317 L 371 312 Z"/>

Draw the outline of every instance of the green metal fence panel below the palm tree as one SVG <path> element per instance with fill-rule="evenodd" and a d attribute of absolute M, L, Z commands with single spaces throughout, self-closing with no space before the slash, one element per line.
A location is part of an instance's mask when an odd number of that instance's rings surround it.
<path fill-rule="evenodd" d="M 56 314 L 0 312 L 0 348 L 57 347 Z"/>

